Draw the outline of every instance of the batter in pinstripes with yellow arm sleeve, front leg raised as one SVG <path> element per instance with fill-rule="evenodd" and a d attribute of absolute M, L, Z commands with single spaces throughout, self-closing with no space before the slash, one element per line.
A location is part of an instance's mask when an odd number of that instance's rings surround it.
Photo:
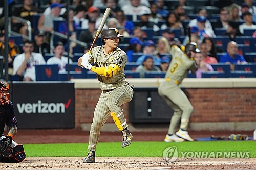
<path fill-rule="evenodd" d="M 84 54 L 78 60 L 78 66 L 82 66 L 97 74 L 102 93 L 96 105 L 93 122 L 91 125 L 88 155 L 84 163 L 95 162 L 95 150 L 103 124 L 111 115 L 117 128 L 122 133 L 122 147 L 127 147 L 133 138 L 124 118 L 120 106 L 130 102 L 133 97 L 133 89 L 124 77 L 124 65 L 127 56 L 118 48 L 120 42 L 119 31 L 116 28 L 105 29 L 101 33 L 104 45 L 92 49 L 91 55 Z M 94 66 L 91 63 L 94 62 Z"/>

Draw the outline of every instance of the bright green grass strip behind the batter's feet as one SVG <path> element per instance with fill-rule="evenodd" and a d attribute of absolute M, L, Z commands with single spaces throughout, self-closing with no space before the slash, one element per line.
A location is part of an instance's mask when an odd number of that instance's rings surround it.
<path fill-rule="evenodd" d="M 250 152 L 250 158 L 256 157 L 255 141 L 208 141 L 208 142 L 132 142 L 122 148 L 121 142 L 100 142 L 97 145 L 97 157 L 162 157 L 163 150 L 176 146 L 179 157 L 181 152 Z M 84 157 L 88 152 L 88 143 L 60 144 L 24 144 L 27 157 Z"/>

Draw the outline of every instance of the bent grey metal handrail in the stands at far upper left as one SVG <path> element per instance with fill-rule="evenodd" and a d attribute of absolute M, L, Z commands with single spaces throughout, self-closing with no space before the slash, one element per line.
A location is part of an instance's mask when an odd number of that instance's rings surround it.
<path fill-rule="evenodd" d="M 23 34 L 19 34 L 15 31 L 12 31 L 11 29 L 11 21 L 15 19 L 17 20 L 17 22 L 19 23 L 25 23 L 26 25 L 28 25 L 28 36 L 26 35 L 23 35 Z M 23 19 L 23 18 L 20 18 L 20 17 L 17 17 L 17 16 L 12 16 L 11 19 L 9 19 L 9 23 L 8 23 L 8 30 L 9 30 L 9 34 L 13 34 L 13 35 L 16 35 L 16 36 L 22 36 L 23 38 L 27 39 L 27 40 L 32 40 L 32 27 L 31 27 L 31 22 L 29 20 L 26 20 L 26 19 Z"/>

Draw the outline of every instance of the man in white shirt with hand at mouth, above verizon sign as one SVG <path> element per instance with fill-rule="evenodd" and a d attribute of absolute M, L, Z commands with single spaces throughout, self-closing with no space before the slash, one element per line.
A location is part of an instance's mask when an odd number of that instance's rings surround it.
<path fill-rule="evenodd" d="M 13 61 L 13 75 L 22 77 L 23 81 L 35 81 L 35 65 L 46 64 L 40 53 L 33 52 L 33 42 L 26 40 L 23 53 L 17 55 Z"/>

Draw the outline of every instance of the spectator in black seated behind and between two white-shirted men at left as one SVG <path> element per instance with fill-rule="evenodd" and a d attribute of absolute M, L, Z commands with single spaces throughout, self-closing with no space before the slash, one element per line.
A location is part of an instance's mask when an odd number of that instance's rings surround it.
<path fill-rule="evenodd" d="M 35 35 L 34 41 L 34 50 L 35 53 L 40 53 L 42 56 L 45 56 L 46 53 L 50 53 L 50 45 L 44 41 L 45 34 L 42 32 L 37 32 Z"/>

